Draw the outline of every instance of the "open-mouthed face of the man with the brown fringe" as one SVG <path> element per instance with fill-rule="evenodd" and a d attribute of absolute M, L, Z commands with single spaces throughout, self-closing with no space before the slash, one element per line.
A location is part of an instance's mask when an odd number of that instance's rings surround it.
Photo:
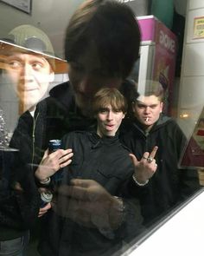
<path fill-rule="evenodd" d="M 121 110 L 112 109 L 111 105 L 102 108 L 96 115 L 98 121 L 97 134 L 103 136 L 114 136 L 118 131 L 124 113 Z"/>

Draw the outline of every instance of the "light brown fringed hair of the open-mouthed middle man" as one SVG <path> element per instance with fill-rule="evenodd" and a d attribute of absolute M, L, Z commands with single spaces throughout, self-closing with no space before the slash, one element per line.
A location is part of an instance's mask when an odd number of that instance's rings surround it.
<path fill-rule="evenodd" d="M 94 95 L 92 102 L 92 113 L 97 114 L 99 110 L 111 105 L 114 110 L 121 110 L 124 114 L 127 112 L 127 103 L 118 89 L 103 88 Z"/>

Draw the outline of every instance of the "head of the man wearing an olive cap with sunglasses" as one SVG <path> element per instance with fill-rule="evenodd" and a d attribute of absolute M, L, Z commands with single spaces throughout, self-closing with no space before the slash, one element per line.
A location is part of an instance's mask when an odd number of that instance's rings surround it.
<path fill-rule="evenodd" d="M 54 80 L 53 46 L 43 31 L 30 25 L 16 27 L 5 40 L 10 44 L 1 47 L 3 75 L 19 98 L 20 114 L 32 111 Z"/>

